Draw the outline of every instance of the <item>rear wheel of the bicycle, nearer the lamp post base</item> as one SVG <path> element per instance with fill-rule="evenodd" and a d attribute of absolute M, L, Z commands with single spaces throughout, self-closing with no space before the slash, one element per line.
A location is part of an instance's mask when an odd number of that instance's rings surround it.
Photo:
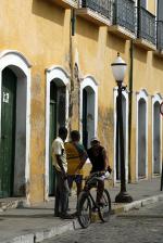
<path fill-rule="evenodd" d="M 111 215 L 111 197 L 106 189 L 103 191 L 101 201 L 102 204 L 99 205 L 99 217 L 102 222 L 106 222 Z"/>

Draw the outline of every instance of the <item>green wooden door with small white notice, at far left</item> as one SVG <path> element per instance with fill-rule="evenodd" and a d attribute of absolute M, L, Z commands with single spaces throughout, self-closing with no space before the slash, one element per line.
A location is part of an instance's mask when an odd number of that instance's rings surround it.
<path fill-rule="evenodd" d="M 15 150 L 16 76 L 5 68 L 2 72 L 0 197 L 12 196 Z"/>

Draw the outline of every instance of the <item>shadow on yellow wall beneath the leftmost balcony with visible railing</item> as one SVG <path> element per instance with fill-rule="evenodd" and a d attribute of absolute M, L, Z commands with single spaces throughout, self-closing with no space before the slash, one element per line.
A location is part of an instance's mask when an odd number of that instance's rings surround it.
<path fill-rule="evenodd" d="M 76 34 L 79 36 L 90 38 L 98 42 L 99 26 L 97 26 L 96 24 L 88 22 L 82 17 L 77 17 Z"/>

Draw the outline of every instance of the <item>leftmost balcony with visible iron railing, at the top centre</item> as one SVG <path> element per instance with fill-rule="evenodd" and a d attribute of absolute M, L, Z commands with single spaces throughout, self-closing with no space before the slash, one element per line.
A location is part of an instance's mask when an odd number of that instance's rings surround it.
<path fill-rule="evenodd" d="M 112 0 L 82 0 L 76 14 L 102 26 L 111 25 Z"/>

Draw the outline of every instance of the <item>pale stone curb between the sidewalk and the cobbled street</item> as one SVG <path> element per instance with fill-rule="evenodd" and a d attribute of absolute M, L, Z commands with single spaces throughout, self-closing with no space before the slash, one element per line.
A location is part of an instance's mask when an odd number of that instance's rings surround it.
<path fill-rule="evenodd" d="M 131 209 L 138 209 L 140 207 L 147 206 L 152 203 L 156 203 L 162 200 L 163 200 L 163 194 L 159 194 L 155 196 L 147 197 L 145 200 L 135 201 L 129 204 L 122 204 L 122 205 L 117 206 L 116 208 L 112 209 L 112 215 L 121 214 L 121 213 L 128 212 Z M 97 217 L 97 219 L 99 219 L 99 218 Z M 20 235 L 12 240 L 5 240 L 5 241 L 2 241 L 1 243 L 36 243 L 36 242 L 41 242 L 43 240 L 51 239 L 55 235 L 65 233 L 66 231 L 73 231 L 73 230 L 76 230 L 79 228 L 80 228 L 80 226 L 78 223 L 78 220 L 75 219 L 75 220 L 62 223 L 60 226 L 57 226 L 57 227 L 45 229 L 42 231 Z"/>

